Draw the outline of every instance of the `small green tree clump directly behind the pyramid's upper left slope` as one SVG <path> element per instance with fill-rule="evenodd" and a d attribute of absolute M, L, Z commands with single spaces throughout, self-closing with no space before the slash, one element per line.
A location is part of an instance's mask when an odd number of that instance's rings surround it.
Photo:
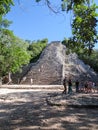
<path fill-rule="evenodd" d="M 28 50 L 31 52 L 31 61 L 36 62 L 39 59 L 40 54 L 42 53 L 43 49 L 47 46 L 48 40 L 38 40 L 34 41 L 29 45 Z"/>

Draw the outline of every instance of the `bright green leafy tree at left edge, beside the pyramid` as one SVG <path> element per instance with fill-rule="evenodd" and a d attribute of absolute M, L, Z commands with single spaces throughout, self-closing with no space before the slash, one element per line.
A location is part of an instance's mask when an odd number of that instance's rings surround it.
<path fill-rule="evenodd" d="M 0 31 L 0 76 L 19 71 L 29 63 L 28 44 L 9 30 Z"/>

